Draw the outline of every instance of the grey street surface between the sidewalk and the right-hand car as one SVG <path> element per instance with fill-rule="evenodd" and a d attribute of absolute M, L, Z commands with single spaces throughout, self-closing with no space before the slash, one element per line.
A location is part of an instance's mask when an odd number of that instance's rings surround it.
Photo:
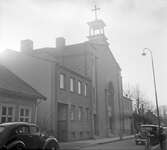
<path fill-rule="evenodd" d="M 144 145 L 135 145 L 134 139 L 95 145 L 81 150 L 144 150 Z"/>

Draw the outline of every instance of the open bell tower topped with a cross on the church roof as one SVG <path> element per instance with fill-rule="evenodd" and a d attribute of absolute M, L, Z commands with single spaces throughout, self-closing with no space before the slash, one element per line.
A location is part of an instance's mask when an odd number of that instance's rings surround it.
<path fill-rule="evenodd" d="M 88 40 L 91 42 L 107 44 L 107 38 L 104 33 L 104 27 L 106 25 L 103 20 L 97 18 L 98 10 L 100 10 L 100 8 L 97 8 L 96 5 L 94 6 L 94 9 L 92 9 L 92 11 L 95 12 L 95 20 L 88 22 L 89 26 Z"/>

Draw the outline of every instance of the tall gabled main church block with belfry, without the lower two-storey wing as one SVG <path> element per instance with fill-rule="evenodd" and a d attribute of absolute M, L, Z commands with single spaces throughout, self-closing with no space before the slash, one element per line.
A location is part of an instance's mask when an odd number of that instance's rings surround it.
<path fill-rule="evenodd" d="M 121 134 L 122 77 L 104 33 L 105 23 L 88 23 L 88 41 L 66 45 L 56 39 L 56 47 L 34 50 L 38 57 L 52 58 L 61 65 L 91 79 L 94 136 Z"/>

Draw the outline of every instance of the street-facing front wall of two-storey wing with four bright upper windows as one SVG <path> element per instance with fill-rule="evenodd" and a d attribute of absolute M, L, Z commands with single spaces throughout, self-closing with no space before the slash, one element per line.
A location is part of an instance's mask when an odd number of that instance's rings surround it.
<path fill-rule="evenodd" d="M 56 67 L 57 133 L 61 141 L 92 137 L 91 81 L 63 66 Z"/>

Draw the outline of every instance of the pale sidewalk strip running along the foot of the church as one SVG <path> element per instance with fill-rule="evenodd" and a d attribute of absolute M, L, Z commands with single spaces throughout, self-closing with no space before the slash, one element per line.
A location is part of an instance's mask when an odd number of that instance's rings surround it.
<path fill-rule="evenodd" d="M 124 136 L 122 140 L 134 138 L 134 135 Z M 105 144 L 119 141 L 120 137 L 113 137 L 113 138 L 102 138 L 102 139 L 90 139 L 90 140 L 82 140 L 82 141 L 75 141 L 75 142 L 64 142 L 60 143 L 61 150 L 79 150 L 83 147 L 93 146 L 97 144 Z"/>

